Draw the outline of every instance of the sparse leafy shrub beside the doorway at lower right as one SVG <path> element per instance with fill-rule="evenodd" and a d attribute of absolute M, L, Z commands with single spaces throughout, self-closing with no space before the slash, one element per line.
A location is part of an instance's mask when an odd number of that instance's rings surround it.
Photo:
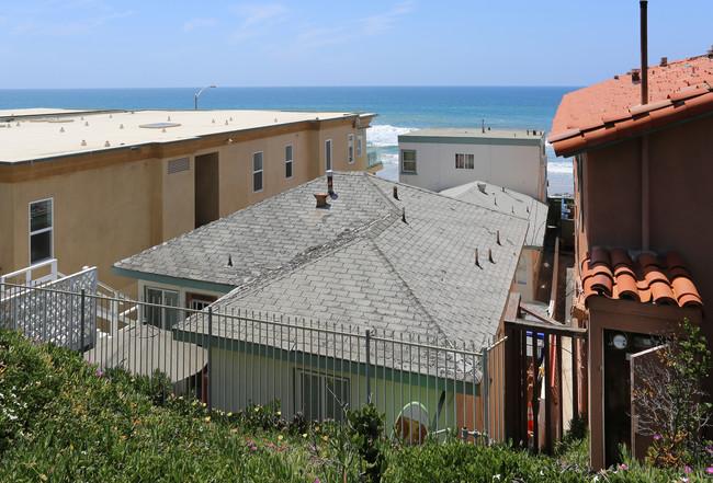
<path fill-rule="evenodd" d="M 711 403 L 702 381 L 713 367 L 700 327 L 686 319 L 658 352 L 658 360 L 644 363 L 633 388 L 638 430 L 653 436 L 648 460 L 655 465 L 703 463 L 711 455 L 703 439 Z"/>

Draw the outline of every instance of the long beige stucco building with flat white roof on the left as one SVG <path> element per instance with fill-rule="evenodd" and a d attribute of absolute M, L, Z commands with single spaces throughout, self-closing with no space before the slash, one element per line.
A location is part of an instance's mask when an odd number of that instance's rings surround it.
<path fill-rule="evenodd" d="M 326 170 L 366 170 L 374 116 L 0 111 L 0 274 L 54 257 L 136 295 L 114 262 Z"/>

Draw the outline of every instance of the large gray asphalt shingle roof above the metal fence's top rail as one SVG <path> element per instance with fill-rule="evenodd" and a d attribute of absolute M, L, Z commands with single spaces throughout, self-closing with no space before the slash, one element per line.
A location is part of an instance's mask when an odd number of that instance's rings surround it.
<path fill-rule="evenodd" d="M 528 220 L 356 172 L 335 173 L 337 196 L 316 208 L 326 185 L 296 186 L 115 266 L 235 286 L 216 310 L 452 342 L 495 335 Z"/>

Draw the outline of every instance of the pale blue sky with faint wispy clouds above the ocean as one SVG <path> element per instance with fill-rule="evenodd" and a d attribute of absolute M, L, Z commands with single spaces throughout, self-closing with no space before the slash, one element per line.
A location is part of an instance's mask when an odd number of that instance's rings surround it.
<path fill-rule="evenodd" d="M 712 48 L 650 0 L 648 59 Z M 0 89 L 589 85 L 641 64 L 638 0 L 0 0 Z"/>

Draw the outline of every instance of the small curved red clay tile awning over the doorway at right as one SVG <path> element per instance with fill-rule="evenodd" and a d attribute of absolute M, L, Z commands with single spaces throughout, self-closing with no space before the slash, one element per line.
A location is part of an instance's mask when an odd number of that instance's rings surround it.
<path fill-rule="evenodd" d="M 585 302 L 589 297 L 702 308 L 701 296 L 678 252 L 642 253 L 632 261 L 623 249 L 595 248 L 581 263 Z"/>

